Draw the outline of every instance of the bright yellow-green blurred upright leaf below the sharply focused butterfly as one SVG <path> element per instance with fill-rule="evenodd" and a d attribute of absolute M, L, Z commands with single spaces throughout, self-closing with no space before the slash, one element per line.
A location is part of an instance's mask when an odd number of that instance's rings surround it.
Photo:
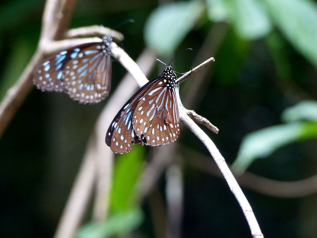
<path fill-rule="evenodd" d="M 144 148 L 140 145 L 135 145 L 132 153 L 117 156 L 110 197 L 110 208 L 113 210 L 135 207 L 135 185 L 142 171 L 144 158 Z"/>

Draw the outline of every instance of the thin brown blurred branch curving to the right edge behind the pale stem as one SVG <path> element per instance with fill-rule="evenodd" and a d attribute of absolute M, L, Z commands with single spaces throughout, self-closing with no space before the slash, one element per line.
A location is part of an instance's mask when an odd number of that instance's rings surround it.
<path fill-rule="evenodd" d="M 191 149 L 185 149 L 185 153 L 189 155 L 186 156 L 186 160 L 197 169 L 223 178 L 217 166 L 210 161 L 208 156 Z M 236 180 L 246 188 L 275 197 L 294 198 L 317 192 L 317 175 L 298 181 L 277 181 L 246 171 L 237 176 Z"/>

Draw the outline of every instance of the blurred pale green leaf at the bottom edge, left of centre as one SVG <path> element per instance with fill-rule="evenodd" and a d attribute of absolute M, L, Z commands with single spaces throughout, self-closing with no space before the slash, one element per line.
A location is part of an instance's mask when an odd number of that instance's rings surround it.
<path fill-rule="evenodd" d="M 139 227 L 144 220 L 141 209 L 134 208 L 111 215 L 107 221 L 91 222 L 77 233 L 77 238 L 107 238 L 114 235 L 126 235 Z"/>

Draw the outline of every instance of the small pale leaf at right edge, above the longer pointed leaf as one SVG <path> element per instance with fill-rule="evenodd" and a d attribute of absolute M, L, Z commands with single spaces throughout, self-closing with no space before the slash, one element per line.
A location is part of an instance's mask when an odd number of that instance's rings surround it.
<path fill-rule="evenodd" d="M 282 113 L 282 120 L 285 122 L 299 120 L 317 121 L 317 102 L 302 101 L 293 107 L 285 109 Z"/>

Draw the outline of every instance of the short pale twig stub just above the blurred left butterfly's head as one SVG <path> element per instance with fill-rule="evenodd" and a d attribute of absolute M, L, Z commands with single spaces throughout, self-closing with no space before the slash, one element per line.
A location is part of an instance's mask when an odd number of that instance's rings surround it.
<path fill-rule="evenodd" d="M 77 38 L 83 36 L 104 36 L 107 34 L 111 34 L 112 38 L 118 41 L 122 41 L 124 38 L 120 32 L 100 25 L 83 26 L 70 29 L 65 33 L 65 38 Z"/>

